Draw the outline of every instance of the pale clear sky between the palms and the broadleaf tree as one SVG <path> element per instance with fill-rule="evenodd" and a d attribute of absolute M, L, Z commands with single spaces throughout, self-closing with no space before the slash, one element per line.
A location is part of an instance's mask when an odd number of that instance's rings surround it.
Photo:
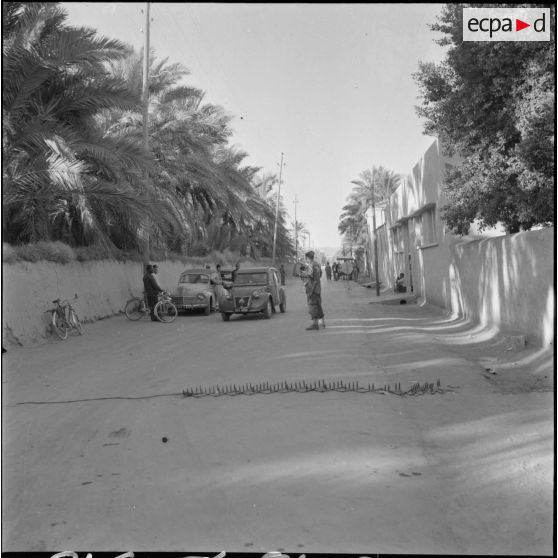
<path fill-rule="evenodd" d="M 146 3 L 63 2 L 67 23 L 140 48 Z M 244 163 L 279 175 L 313 248 L 340 247 L 352 180 L 408 174 L 434 141 L 416 115 L 419 61 L 439 62 L 443 4 L 150 3 L 150 45 L 233 120 Z"/>

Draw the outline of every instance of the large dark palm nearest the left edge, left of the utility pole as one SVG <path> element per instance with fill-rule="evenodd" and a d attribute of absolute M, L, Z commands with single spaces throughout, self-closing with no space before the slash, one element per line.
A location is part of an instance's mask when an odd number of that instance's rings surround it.
<path fill-rule="evenodd" d="M 52 3 L 3 5 L 5 238 L 135 245 L 143 214 L 163 218 L 137 191 L 150 159 L 99 126 L 107 111 L 139 106 L 106 68 L 129 48 L 65 19 Z"/>

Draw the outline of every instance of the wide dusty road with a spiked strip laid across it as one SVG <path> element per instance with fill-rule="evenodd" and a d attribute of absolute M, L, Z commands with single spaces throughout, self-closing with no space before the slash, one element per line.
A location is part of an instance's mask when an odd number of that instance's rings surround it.
<path fill-rule="evenodd" d="M 373 298 L 326 284 L 327 328 L 307 332 L 291 279 L 270 320 L 115 317 L 10 350 L 3 550 L 551 554 L 552 393 L 503 392 L 470 329 Z M 405 398 L 176 395 L 438 379 Z"/>

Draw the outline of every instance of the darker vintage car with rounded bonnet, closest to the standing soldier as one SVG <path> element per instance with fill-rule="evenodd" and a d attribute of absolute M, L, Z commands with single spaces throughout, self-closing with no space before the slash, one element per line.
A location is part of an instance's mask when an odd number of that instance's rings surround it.
<path fill-rule="evenodd" d="M 219 310 L 225 322 L 232 314 L 263 313 L 271 318 L 277 311 L 287 310 L 287 295 L 281 286 L 279 272 L 274 267 L 240 268 L 234 283 L 223 290 Z"/>

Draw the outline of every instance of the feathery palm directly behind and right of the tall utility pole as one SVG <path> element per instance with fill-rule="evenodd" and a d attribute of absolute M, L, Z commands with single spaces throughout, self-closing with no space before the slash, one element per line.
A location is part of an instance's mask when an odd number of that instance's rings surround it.
<path fill-rule="evenodd" d="M 139 94 L 141 53 L 113 64 L 112 71 Z M 167 235 L 155 230 L 152 236 L 178 250 L 185 244 L 201 253 L 245 251 L 255 234 L 263 236 L 260 221 L 269 220 L 266 197 L 258 195 L 269 177 L 258 178 L 260 169 L 243 164 L 247 154 L 227 144 L 230 116 L 203 104 L 201 90 L 180 85 L 186 68 L 157 61 L 152 53 L 149 72 L 149 142 L 155 158 L 150 194 L 164 200 L 178 223 Z M 140 114 L 115 114 L 113 129 L 139 136 Z"/>

